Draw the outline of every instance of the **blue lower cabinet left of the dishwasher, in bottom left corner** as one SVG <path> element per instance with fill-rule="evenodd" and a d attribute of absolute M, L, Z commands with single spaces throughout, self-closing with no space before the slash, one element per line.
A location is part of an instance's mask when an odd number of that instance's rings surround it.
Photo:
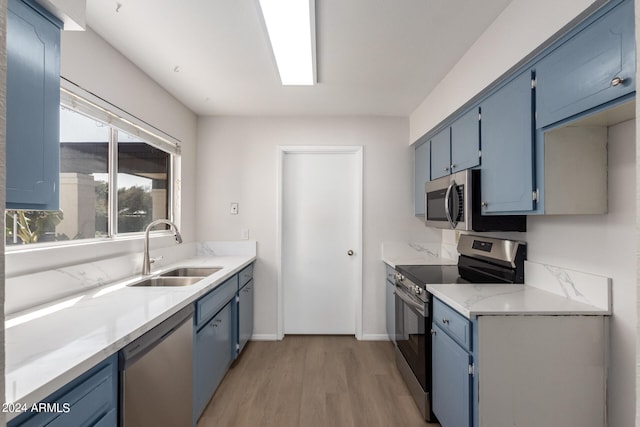
<path fill-rule="evenodd" d="M 99 363 L 35 408 L 8 423 L 9 427 L 114 427 L 117 424 L 118 360 L 116 355 Z"/>

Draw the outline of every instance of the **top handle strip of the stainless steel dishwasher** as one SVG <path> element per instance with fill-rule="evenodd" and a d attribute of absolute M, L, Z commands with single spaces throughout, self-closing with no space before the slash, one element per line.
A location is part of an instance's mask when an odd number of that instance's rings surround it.
<path fill-rule="evenodd" d="M 164 341 L 164 339 L 171 335 L 176 329 L 182 326 L 184 322 L 191 322 L 193 312 L 193 304 L 189 304 L 120 350 L 118 353 L 118 364 L 120 370 L 125 370 L 141 359 L 145 354 Z"/>

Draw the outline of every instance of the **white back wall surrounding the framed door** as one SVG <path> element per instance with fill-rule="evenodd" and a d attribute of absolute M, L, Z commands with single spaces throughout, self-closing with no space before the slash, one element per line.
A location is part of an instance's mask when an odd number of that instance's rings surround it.
<path fill-rule="evenodd" d="M 277 146 L 364 146 L 363 335 L 384 324 L 383 241 L 439 242 L 411 215 L 412 149 L 401 118 L 207 117 L 198 121 L 197 220 L 201 240 L 258 241 L 255 335 L 277 332 Z M 239 214 L 230 215 L 231 202 Z"/>

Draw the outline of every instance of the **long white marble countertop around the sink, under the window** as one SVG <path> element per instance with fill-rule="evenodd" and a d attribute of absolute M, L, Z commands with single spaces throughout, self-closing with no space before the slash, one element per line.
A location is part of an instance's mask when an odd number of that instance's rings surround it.
<path fill-rule="evenodd" d="M 203 256 L 164 267 L 219 266 L 184 287 L 130 287 L 141 276 L 8 318 L 5 402 L 31 405 L 123 348 L 239 272 L 255 256 Z M 18 414 L 7 414 L 10 420 Z"/>

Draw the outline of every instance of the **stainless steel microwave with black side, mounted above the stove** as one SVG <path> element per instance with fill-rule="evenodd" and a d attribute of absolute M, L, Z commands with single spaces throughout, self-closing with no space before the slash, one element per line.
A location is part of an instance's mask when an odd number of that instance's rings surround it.
<path fill-rule="evenodd" d="M 425 184 L 425 223 L 466 231 L 526 231 L 524 215 L 482 215 L 480 170 L 467 169 Z"/>

